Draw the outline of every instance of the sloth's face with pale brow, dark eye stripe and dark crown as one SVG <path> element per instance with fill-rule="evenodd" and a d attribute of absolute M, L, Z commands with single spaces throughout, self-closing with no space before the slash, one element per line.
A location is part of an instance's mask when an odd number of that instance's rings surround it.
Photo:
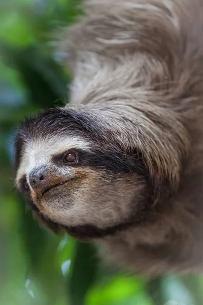
<path fill-rule="evenodd" d="M 44 223 L 83 239 L 142 218 L 149 199 L 142 154 L 124 152 L 91 115 L 66 109 L 50 109 L 20 126 L 16 185 Z"/>

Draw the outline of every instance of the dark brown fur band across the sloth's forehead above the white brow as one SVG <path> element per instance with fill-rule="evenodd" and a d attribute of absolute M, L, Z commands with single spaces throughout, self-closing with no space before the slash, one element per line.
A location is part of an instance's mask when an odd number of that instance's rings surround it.
<path fill-rule="evenodd" d="M 15 170 L 17 171 L 21 159 L 24 142 L 40 137 L 54 135 L 82 136 L 88 140 L 95 140 L 99 133 L 96 122 L 85 112 L 51 108 L 33 117 L 25 118 L 17 129 L 15 136 Z"/>

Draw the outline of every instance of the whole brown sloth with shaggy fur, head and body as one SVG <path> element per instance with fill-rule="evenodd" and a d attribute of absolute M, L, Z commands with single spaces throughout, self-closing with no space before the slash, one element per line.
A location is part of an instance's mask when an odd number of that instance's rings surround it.
<path fill-rule="evenodd" d="M 203 263 L 203 1 L 90 0 L 60 32 L 70 103 L 25 118 L 16 186 L 35 217 L 133 274 Z"/>

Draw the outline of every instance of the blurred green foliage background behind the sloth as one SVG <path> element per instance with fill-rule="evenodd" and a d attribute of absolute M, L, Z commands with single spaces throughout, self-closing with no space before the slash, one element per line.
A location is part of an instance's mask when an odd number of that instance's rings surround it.
<path fill-rule="evenodd" d="M 0 2 L 0 304 L 203 304 L 202 277 L 148 281 L 110 270 L 93 246 L 40 228 L 15 192 L 15 128 L 25 115 L 67 101 L 71 77 L 51 33 L 76 20 L 79 3 Z"/>

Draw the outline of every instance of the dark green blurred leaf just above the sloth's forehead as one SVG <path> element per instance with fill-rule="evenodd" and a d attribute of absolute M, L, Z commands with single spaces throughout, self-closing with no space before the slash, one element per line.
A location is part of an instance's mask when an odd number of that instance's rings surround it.
<path fill-rule="evenodd" d="M 42 58 L 43 54 L 38 48 L 14 51 L 2 46 L 2 52 L 7 64 L 18 70 L 33 103 L 46 108 L 66 98 L 69 79 L 50 56 Z"/>

